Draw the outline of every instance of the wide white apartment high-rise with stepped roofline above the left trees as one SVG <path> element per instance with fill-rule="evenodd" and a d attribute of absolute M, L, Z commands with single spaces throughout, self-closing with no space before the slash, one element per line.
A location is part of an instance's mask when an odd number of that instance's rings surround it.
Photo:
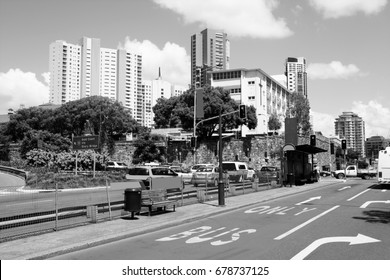
<path fill-rule="evenodd" d="M 136 121 L 144 122 L 141 55 L 102 48 L 96 38 L 83 37 L 79 45 L 56 41 L 50 44 L 49 69 L 51 103 L 104 96 L 121 102 Z"/>

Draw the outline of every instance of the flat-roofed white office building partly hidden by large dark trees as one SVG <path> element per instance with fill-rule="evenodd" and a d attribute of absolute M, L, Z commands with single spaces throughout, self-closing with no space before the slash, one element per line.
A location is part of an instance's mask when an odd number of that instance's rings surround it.
<path fill-rule="evenodd" d="M 268 133 L 268 119 L 272 113 L 280 116 L 284 123 L 287 98 L 290 92 L 282 84 L 261 69 L 232 69 L 211 72 L 211 86 L 229 90 L 238 104 L 254 106 L 257 127 L 242 127 L 242 136 Z"/>

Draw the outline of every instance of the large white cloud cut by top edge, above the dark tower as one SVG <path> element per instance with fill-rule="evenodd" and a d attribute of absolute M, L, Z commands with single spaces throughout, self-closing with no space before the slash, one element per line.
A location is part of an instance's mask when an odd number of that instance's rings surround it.
<path fill-rule="evenodd" d="M 277 0 L 154 0 L 182 15 L 184 22 L 219 29 L 233 37 L 284 38 L 292 35 L 283 18 L 275 18 Z"/>

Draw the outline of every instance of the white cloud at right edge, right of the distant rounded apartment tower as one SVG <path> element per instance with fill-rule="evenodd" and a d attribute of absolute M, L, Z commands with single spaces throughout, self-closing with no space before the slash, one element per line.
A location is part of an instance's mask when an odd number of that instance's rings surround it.
<path fill-rule="evenodd" d="M 376 100 L 371 100 L 367 104 L 362 101 L 352 103 L 351 112 L 363 118 L 366 127 L 366 138 L 371 136 L 390 137 L 390 109 L 383 107 Z"/>

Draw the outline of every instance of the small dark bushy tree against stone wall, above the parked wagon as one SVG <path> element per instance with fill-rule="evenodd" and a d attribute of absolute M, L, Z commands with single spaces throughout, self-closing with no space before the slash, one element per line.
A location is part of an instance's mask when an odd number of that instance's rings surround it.
<path fill-rule="evenodd" d="M 136 150 L 133 154 L 133 163 L 165 162 L 166 148 L 156 145 L 156 142 L 163 140 L 163 136 L 150 134 L 148 129 L 141 130 L 138 139 L 134 143 Z"/>

